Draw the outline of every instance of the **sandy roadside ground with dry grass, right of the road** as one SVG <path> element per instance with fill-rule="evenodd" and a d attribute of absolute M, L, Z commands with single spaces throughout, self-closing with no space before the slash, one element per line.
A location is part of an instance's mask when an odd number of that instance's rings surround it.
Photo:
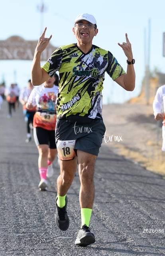
<path fill-rule="evenodd" d="M 165 152 L 161 150 L 161 121 L 155 121 L 152 104 L 103 105 L 106 134 L 103 143 L 149 171 L 165 177 Z"/>

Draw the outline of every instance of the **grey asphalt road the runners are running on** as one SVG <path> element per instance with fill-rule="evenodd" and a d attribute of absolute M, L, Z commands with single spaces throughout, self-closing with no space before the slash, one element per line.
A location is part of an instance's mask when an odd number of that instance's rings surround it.
<path fill-rule="evenodd" d="M 96 242 L 75 246 L 81 225 L 79 176 L 68 191 L 69 229 L 55 226 L 57 159 L 49 190 L 38 189 L 38 152 L 25 143 L 20 106 L 7 119 L 0 111 L 0 256 L 163 256 L 165 179 L 116 155 L 102 144 L 95 167 L 90 229 Z"/>

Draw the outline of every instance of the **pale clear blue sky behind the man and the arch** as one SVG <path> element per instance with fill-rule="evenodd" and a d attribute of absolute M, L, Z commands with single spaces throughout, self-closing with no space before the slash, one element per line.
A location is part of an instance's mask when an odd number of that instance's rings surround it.
<path fill-rule="evenodd" d="M 44 3 L 47 10 L 41 15 L 37 6 Z M 126 70 L 126 56 L 118 42 L 126 42 L 125 33 L 132 44 L 136 63 L 136 89 L 126 92 L 106 76 L 103 103 L 122 103 L 135 97 L 141 90 L 145 65 L 149 60 L 150 70 L 155 67 L 165 73 L 163 57 L 163 32 L 165 32 L 165 1 L 162 0 L 5 0 L 1 1 L 0 40 L 10 36 L 21 36 L 25 40 L 38 40 L 41 28 L 47 26 L 46 36 L 53 35 L 51 44 L 58 47 L 76 42 L 72 28 L 76 16 L 87 12 L 95 16 L 98 34 L 93 44 L 110 50 Z M 42 18 L 41 18 L 42 17 Z M 149 30 L 150 21 L 150 30 Z M 149 39 L 150 31 L 150 42 Z M 150 48 L 149 54 L 147 48 Z M 0 60 L 0 82 L 4 78 L 7 86 L 17 82 L 22 88 L 30 78 L 31 61 Z M 16 80 L 16 81 L 15 81 Z"/>

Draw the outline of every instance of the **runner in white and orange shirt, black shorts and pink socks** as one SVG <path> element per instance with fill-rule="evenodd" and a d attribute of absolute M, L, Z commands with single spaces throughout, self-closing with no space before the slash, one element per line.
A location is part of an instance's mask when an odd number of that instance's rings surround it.
<path fill-rule="evenodd" d="M 58 83 L 56 83 L 57 79 Z M 33 117 L 33 137 L 39 153 L 38 169 L 41 180 L 38 187 L 40 190 L 47 190 L 47 177 L 53 175 L 52 163 L 57 153 L 55 143 L 57 84 L 59 84 L 59 77 L 55 74 L 43 85 L 35 87 L 26 103 L 28 109 L 37 107 Z"/>

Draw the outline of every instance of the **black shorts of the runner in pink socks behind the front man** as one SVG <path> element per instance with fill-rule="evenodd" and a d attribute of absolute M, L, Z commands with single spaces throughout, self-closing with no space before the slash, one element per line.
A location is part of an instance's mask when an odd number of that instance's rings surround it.
<path fill-rule="evenodd" d="M 50 149 L 56 149 L 55 131 L 49 131 L 41 127 L 33 128 L 33 137 L 35 145 L 47 144 Z"/>

